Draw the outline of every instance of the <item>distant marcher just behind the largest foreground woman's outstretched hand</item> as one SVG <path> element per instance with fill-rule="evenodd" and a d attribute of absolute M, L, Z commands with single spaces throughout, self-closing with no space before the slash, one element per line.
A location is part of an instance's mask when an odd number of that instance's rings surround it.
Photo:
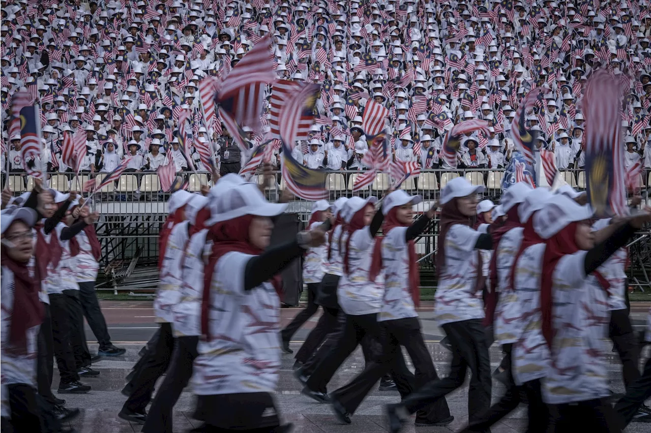
<path fill-rule="evenodd" d="M 307 222 L 307 230 L 312 230 L 324 224 L 331 216 L 332 206 L 327 200 L 318 200 L 312 205 L 310 220 Z M 283 340 L 283 352 L 293 353 L 290 349 L 289 342 L 292 335 L 298 331 L 303 323 L 307 322 L 310 317 L 316 313 L 318 306 L 314 304 L 314 298 L 318 291 L 318 285 L 324 277 L 324 259 L 326 254 L 325 246 L 310 248 L 303 259 L 303 283 L 307 284 L 307 306 L 294 317 L 285 328 L 281 331 Z"/>

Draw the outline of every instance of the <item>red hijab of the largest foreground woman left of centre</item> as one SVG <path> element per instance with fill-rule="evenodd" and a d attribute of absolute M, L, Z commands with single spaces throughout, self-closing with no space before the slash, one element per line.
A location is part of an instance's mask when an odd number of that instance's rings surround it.
<path fill-rule="evenodd" d="M 210 340 L 210 328 L 208 326 L 209 309 L 210 309 L 210 285 L 212 276 L 215 272 L 215 265 L 222 256 L 229 252 L 242 252 L 259 256 L 262 250 L 253 245 L 249 239 L 249 226 L 255 218 L 255 215 L 243 215 L 242 217 L 233 218 L 232 220 L 217 222 L 208 231 L 206 242 L 212 241 L 212 252 L 208 265 L 204 272 L 204 287 L 201 301 L 201 333 L 206 335 Z M 275 275 L 271 283 L 276 289 L 276 293 L 281 295 L 283 292 L 283 282 L 279 274 Z"/>

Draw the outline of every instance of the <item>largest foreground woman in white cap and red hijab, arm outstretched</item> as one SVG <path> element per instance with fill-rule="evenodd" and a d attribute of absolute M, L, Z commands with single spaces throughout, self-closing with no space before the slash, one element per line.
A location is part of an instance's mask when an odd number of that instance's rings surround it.
<path fill-rule="evenodd" d="M 197 431 L 288 432 L 292 425 L 281 425 L 272 397 L 281 354 L 277 275 L 322 244 L 324 232 L 301 231 L 294 241 L 268 248 L 271 217 L 286 204 L 267 202 L 256 185 L 234 174 L 222 177 L 215 189 L 219 194 L 206 221 L 212 250 L 192 378 L 195 418 L 204 423 Z"/>

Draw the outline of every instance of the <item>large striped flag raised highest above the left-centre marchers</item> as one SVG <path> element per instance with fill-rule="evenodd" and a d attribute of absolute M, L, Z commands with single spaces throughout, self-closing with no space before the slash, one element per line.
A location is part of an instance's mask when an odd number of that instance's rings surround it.
<path fill-rule="evenodd" d="M 260 129 L 264 90 L 275 79 L 270 50 L 271 38 L 267 36 L 242 57 L 217 92 L 215 102 L 219 103 L 221 118 L 233 137 L 239 133 L 236 125 Z M 242 142 L 238 144 L 243 147 Z"/>

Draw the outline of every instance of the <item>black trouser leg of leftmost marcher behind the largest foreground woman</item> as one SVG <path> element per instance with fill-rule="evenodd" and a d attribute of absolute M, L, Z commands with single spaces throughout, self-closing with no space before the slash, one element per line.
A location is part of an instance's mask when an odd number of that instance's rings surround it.
<path fill-rule="evenodd" d="M 169 361 L 174 349 L 174 337 L 172 335 L 172 325 L 161 323 L 160 335 L 153 350 L 146 356 L 143 368 L 134 378 L 133 393 L 124 402 L 123 409 L 131 412 L 143 413 L 149 400 L 152 399 L 156 380 L 165 373 L 169 367 Z"/>

